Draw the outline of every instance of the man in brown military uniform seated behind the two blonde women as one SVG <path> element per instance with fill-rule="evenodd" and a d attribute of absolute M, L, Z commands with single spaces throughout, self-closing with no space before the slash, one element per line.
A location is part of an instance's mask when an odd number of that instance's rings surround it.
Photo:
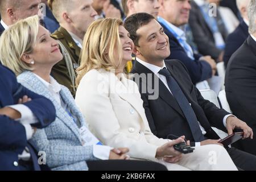
<path fill-rule="evenodd" d="M 59 40 L 63 60 L 52 68 L 52 76 L 62 85 L 67 86 L 75 97 L 76 68 L 82 39 L 89 24 L 97 15 L 92 7 L 92 0 L 49 0 L 48 5 L 60 23 L 60 28 L 53 32 L 52 38 Z"/>

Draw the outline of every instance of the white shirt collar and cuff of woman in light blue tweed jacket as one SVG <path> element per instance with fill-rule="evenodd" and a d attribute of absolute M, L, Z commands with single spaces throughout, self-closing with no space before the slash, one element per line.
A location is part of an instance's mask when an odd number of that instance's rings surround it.
<path fill-rule="evenodd" d="M 55 100 L 63 107 L 63 109 L 67 109 L 67 104 L 65 104 L 60 96 L 60 90 L 61 86 L 60 84 L 53 78 L 50 77 L 50 82 L 47 82 L 46 80 L 43 80 L 43 78 L 39 77 L 34 73 L 36 77 L 39 78 L 40 81 L 43 82 L 44 85 L 48 88 L 49 92 L 51 92 L 52 96 L 55 98 Z M 73 116 L 74 117 L 74 116 Z M 73 122 L 73 121 L 72 121 Z M 101 159 L 101 160 L 108 160 L 110 150 L 112 150 L 112 147 L 109 146 L 102 146 L 102 145 L 93 145 L 93 156 Z"/>

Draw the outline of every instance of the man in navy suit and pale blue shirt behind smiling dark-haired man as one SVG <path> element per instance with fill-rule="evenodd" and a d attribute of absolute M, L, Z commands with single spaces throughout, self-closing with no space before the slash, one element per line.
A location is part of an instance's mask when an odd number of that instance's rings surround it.
<path fill-rule="evenodd" d="M 207 80 L 216 73 L 216 63 L 210 56 L 193 53 L 180 26 L 188 23 L 191 6 L 189 0 L 160 0 L 158 22 L 170 40 L 171 55 L 167 59 L 179 59 L 187 67 L 194 84 Z"/>

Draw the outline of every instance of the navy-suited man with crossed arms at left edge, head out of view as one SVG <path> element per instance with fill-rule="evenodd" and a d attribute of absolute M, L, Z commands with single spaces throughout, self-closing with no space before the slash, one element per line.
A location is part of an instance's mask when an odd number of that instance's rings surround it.
<path fill-rule="evenodd" d="M 0 171 L 40 170 L 36 148 L 27 140 L 35 128 L 42 129 L 55 120 L 55 107 L 18 84 L 14 73 L 2 64 L 0 85 Z M 18 157 L 25 148 L 30 152 L 28 161 Z"/>

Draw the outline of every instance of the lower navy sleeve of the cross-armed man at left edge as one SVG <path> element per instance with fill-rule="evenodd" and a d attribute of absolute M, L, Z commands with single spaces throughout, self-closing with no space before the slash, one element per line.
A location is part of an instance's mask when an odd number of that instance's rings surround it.
<path fill-rule="evenodd" d="M 22 124 L 13 119 L 0 115 L 0 148 L 9 150 L 15 146 L 22 153 L 27 144 L 26 130 Z M 13 150 L 15 150 L 13 148 Z"/>

